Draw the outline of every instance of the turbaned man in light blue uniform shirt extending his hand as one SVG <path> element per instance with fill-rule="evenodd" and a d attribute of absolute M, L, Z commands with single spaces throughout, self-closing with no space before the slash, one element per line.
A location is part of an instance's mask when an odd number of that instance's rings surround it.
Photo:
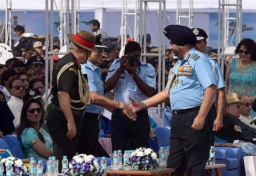
<path fill-rule="evenodd" d="M 165 90 L 145 101 L 133 99 L 134 111 L 156 106 L 170 98 L 171 119 L 170 154 L 167 167 L 175 170 L 171 175 L 205 175 L 214 122 L 212 103 L 217 89 L 212 66 L 194 46 L 193 31 L 185 26 L 169 25 L 164 29 L 170 48 L 179 58 L 170 70 Z"/>

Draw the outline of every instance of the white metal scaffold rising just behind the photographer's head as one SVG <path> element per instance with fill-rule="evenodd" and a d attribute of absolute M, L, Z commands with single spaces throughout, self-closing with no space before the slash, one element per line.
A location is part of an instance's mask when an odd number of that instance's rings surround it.
<path fill-rule="evenodd" d="M 127 0 L 122 0 L 122 18 L 121 18 L 121 29 L 120 29 L 120 33 L 121 33 L 121 46 L 123 47 L 126 43 L 126 39 L 127 39 L 127 27 L 129 29 L 129 34 L 131 37 L 134 38 L 134 41 L 139 41 L 139 11 L 140 11 L 140 4 L 138 0 L 135 0 L 135 10 L 134 12 L 129 12 L 128 11 L 128 7 L 129 7 L 129 3 L 131 3 L 131 1 L 127 1 Z M 134 16 L 134 34 L 131 34 L 131 30 L 127 24 L 127 16 Z"/>

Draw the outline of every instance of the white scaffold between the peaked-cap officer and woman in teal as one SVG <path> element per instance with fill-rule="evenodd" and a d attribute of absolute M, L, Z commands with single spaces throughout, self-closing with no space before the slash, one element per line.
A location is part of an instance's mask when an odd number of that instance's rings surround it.
<path fill-rule="evenodd" d="M 236 0 L 236 3 L 231 4 L 230 0 L 219 0 L 218 13 L 218 61 L 222 59 L 221 70 L 224 71 L 224 64 L 226 64 L 225 57 L 231 54 L 225 54 L 225 50 L 229 46 L 234 46 L 233 39 L 235 37 L 235 45 L 242 39 L 242 0 Z M 230 8 L 234 7 L 233 13 L 236 17 L 230 17 Z M 222 36 L 222 38 L 221 38 Z M 220 52 L 221 49 L 221 52 Z M 233 54 L 235 56 L 235 54 Z"/>

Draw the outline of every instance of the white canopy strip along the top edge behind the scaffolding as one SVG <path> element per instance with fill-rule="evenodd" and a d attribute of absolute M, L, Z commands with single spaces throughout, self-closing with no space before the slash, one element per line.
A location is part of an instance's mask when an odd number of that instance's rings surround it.
<path fill-rule="evenodd" d="M 234 1 L 234 2 L 233 2 Z M 96 9 L 105 8 L 107 11 L 121 11 L 122 0 L 81 0 L 80 10 L 94 11 Z M 209 9 L 218 11 L 218 0 L 194 0 L 194 10 L 209 12 Z M 57 7 L 60 7 L 60 0 L 55 0 Z M 230 0 L 230 3 L 235 3 L 235 0 Z M 130 9 L 135 9 L 135 0 L 130 0 Z M 157 3 L 149 3 L 150 10 L 158 10 Z M 189 0 L 182 0 L 182 6 L 186 9 L 188 8 Z M 176 0 L 166 0 L 166 11 L 176 11 L 177 1 Z M 0 7 L 5 7 L 5 0 L 0 0 Z M 12 0 L 12 10 L 13 11 L 45 11 L 45 1 L 43 0 Z M 244 0 L 243 1 L 243 11 L 256 11 L 256 1 L 255 0 Z"/>

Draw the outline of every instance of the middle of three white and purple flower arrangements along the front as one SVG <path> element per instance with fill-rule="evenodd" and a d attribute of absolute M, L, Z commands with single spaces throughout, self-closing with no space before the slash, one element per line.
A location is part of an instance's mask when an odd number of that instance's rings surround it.
<path fill-rule="evenodd" d="M 68 170 L 63 171 L 64 175 L 98 175 L 101 176 L 104 170 L 101 170 L 98 159 L 93 155 L 79 154 L 73 157 L 69 162 Z"/>

